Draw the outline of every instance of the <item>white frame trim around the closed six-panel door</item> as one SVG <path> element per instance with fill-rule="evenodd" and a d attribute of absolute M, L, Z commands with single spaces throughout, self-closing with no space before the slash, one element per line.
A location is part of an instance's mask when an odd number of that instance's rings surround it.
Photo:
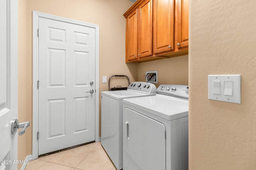
<path fill-rule="evenodd" d="M 68 18 L 63 18 L 59 16 L 54 16 L 50 14 L 45 14 L 42 12 L 33 11 L 33 104 L 32 104 L 32 159 L 38 158 L 38 140 L 37 140 L 37 132 L 38 132 L 38 88 L 37 88 L 37 80 L 38 80 L 38 21 L 39 17 L 47 18 L 50 20 L 62 21 L 77 25 L 82 25 L 86 27 L 95 28 L 96 31 L 96 51 L 95 51 L 95 141 L 99 141 L 99 25 L 86 23 L 82 21 L 72 20 Z"/>

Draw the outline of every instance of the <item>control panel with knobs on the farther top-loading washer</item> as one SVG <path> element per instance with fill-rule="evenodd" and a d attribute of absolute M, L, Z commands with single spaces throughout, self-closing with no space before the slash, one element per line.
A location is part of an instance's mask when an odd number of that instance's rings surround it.
<path fill-rule="evenodd" d="M 156 86 L 147 82 L 132 82 L 127 90 L 142 92 L 146 94 L 156 94 Z"/>

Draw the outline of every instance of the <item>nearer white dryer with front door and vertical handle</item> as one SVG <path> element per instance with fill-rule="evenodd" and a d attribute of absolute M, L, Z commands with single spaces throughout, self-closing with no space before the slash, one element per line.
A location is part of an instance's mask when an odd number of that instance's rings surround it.
<path fill-rule="evenodd" d="M 188 86 L 123 100 L 123 169 L 188 170 Z"/>

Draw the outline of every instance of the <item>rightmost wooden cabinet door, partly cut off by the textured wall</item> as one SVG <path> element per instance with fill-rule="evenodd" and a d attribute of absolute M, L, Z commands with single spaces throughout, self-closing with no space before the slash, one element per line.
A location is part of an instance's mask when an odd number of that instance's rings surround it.
<path fill-rule="evenodd" d="M 176 45 L 178 49 L 188 47 L 188 0 L 176 0 L 177 33 Z"/>

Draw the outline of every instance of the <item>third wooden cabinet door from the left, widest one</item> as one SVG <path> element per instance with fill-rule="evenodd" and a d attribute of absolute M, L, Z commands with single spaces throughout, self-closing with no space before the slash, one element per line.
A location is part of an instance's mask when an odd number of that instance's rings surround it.
<path fill-rule="evenodd" d="M 174 50 L 174 0 L 155 0 L 153 11 L 153 53 Z"/>

